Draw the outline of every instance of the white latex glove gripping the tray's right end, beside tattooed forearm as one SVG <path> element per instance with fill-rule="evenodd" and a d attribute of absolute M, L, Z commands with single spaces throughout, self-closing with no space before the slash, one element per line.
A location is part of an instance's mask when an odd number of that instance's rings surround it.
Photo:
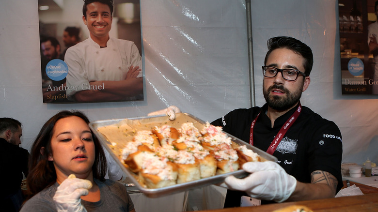
<path fill-rule="evenodd" d="M 225 183 L 228 188 L 245 191 L 253 198 L 283 202 L 297 186 L 297 180 L 275 162 L 248 162 L 243 169 L 252 174 L 244 179 L 229 176 Z"/>

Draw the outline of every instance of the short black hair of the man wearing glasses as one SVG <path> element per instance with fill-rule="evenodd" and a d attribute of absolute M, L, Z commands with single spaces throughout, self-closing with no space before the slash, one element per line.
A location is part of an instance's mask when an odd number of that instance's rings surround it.
<path fill-rule="evenodd" d="M 313 52 L 308 45 L 300 42 L 299 40 L 291 37 L 274 37 L 270 38 L 267 42 L 268 52 L 265 56 L 264 65 L 266 65 L 268 56 L 277 48 L 287 48 L 295 53 L 301 55 L 304 58 L 304 73 L 306 76 L 310 76 L 311 69 L 313 68 L 314 58 Z"/>

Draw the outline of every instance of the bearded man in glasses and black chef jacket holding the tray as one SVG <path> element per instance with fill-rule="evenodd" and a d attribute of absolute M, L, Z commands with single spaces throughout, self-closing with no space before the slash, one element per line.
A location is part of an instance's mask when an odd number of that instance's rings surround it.
<path fill-rule="evenodd" d="M 343 185 L 341 133 L 299 102 L 310 85 L 311 48 L 294 38 L 271 38 L 264 64 L 267 104 L 236 109 L 212 124 L 278 161 L 246 163 L 247 178 L 226 178 L 228 188 L 245 193 L 228 190 L 224 207 L 240 206 L 242 195 L 276 202 L 334 197 Z"/>

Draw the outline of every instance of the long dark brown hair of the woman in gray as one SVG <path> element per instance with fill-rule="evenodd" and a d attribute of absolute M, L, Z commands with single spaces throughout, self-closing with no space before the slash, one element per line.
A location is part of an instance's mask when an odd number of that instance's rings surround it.
<path fill-rule="evenodd" d="M 56 122 L 60 119 L 77 116 L 89 123 L 87 116 L 78 110 L 68 111 L 63 110 L 51 117 L 42 127 L 38 136 L 36 137 L 31 147 L 31 159 L 29 161 L 29 175 L 27 178 L 27 185 L 32 195 L 45 189 L 56 182 L 56 172 L 52 161 L 48 161 L 48 155 L 51 154 L 51 137 Z M 92 167 L 93 177 L 100 181 L 105 181 L 105 174 L 107 171 L 107 163 L 104 150 L 98 141 L 93 136 L 95 147 L 95 159 Z M 45 148 L 41 152 L 41 148 Z"/>

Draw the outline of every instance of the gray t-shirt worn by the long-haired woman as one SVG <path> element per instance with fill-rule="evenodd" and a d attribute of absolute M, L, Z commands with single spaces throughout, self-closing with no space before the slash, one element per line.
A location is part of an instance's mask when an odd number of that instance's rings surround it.
<path fill-rule="evenodd" d="M 100 188 L 101 200 L 88 202 L 81 200 L 81 204 L 88 212 L 129 212 L 134 209 L 134 204 L 126 191 L 126 187 L 119 182 L 106 180 L 105 182 L 94 180 Z M 21 208 L 20 212 L 56 212 L 52 197 L 59 184 L 45 188 L 31 197 Z"/>

